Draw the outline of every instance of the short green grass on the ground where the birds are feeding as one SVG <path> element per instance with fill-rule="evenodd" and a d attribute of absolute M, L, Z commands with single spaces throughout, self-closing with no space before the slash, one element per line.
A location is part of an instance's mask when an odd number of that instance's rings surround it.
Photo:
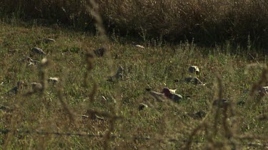
<path fill-rule="evenodd" d="M 267 114 L 267 97 L 259 104 L 257 98 L 249 95 L 252 85 L 261 79 L 264 68 L 247 70 L 247 65 L 252 63 L 266 64 L 264 57 L 256 56 L 252 60 L 247 53 L 230 53 L 232 49 L 228 45 L 202 48 L 187 42 L 161 46 L 158 43 L 145 43 L 146 48 L 139 49 L 129 44 L 131 41 L 109 37 L 106 45 L 110 53 L 103 58 L 94 58 L 94 68 L 87 72 L 87 51 L 104 46 L 98 36 L 66 28 L 29 24 L 0 23 L 0 82 L 4 82 L 0 86 L 1 105 L 14 109 L 12 112 L 0 112 L 0 129 L 96 135 L 106 134 L 110 129 L 112 135 L 125 137 L 111 138 L 108 142 L 111 149 L 182 149 L 194 129 L 200 125 L 199 132 L 193 136 L 192 149 L 216 149 L 220 144 L 230 149 L 234 148 L 232 142 L 238 149 L 264 149 L 248 144 L 267 144 L 267 120 L 258 119 L 260 114 Z M 44 38 L 54 38 L 56 43 L 46 44 Z M 43 49 L 47 55 L 32 53 L 31 48 L 35 46 Z M 17 50 L 9 52 L 13 49 Z M 59 77 L 59 84 L 53 86 L 49 83 L 44 94 L 23 96 L 31 90 L 31 82 L 41 82 L 40 65 L 27 65 L 23 61 L 26 56 L 39 61 L 47 58 L 49 65 L 46 66 L 46 76 Z M 111 63 L 114 65 L 110 67 Z M 107 76 L 115 73 L 119 65 L 125 69 L 124 80 L 106 81 Z M 201 74 L 198 77 L 207 83 L 205 86 L 174 83 L 174 80 L 193 76 L 188 73 L 190 65 L 199 66 Z M 89 75 L 88 85 L 84 84 L 85 73 Z M 245 101 L 246 104 L 232 105 L 234 112 L 228 107 L 227 117 L 224 117 L 224 109 L 219 109 L 219 118 L 215 120 L 217 108 L 211 104 L 219 97 L 217 75 L 222 80 L 223 97 L 234 104 L 239 101 Z M 18 80 L 24 80 L 28 85 L 23 93 L 6 95 Z M 156 102 L 145 90 L 147 87 L 157 92 L 163 87 L 177 88 L 177 93 L 184 99 L 179 104 L 167 100 Z M 67 108 L 60 102 L 58 90 L 62 91 Z M 89 96 L 92 91 L 96 92 L 93 102 Z M 149 108 L 139 111 L 139 103 L 142 102 Z M 83 119 L 76 115 L 90 116 L 89 110 L 92 109 L 105 112 L 100 115 L 104 121 L 91 117 Z M 187 113 L 200 110 L 207 112 L 206 118 L 187 117 Z M 74 120 L 70 115 L 74 115 Z M 109 115 L 119 115 L 123 119 L 114 120 L 107 117 Z M 227 118 L 231 122 L 227 125 L 229 132 L 224 130 L 222 124 L 222 119 Z M 218 122 L 217 133 L 214 132 L 215 122 Z M 112 124 L 114 127 L 111 127 Z M 232 135 L 228 138 L 225 134 Z M 0 135 L 2 149 L 102 149 L 109 141 L 98 136 L 12 132 Z M 242 139 L 240 135 L 250 135 L 253 139 Z M 129 139 L 129 136 L 150 136 L 152 139 Z M 257 136 L 265 139 L 257 139 Z"/>

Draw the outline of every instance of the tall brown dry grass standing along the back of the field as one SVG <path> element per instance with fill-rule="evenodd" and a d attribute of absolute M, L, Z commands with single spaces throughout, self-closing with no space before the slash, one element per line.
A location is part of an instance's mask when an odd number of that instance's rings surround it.
<path fill-rule="evenodd" d="M 99 0 L 99 12 L 108 31 L 162 37 L 168 41 L 194 41 L 214 45 L 267 46 L 268 2 L 264 0 Z M 94 28 L 86 11 L 89 1 L 3 0 L 1 12 L 23 18 L 49 18 L 82 28 Z"/>

